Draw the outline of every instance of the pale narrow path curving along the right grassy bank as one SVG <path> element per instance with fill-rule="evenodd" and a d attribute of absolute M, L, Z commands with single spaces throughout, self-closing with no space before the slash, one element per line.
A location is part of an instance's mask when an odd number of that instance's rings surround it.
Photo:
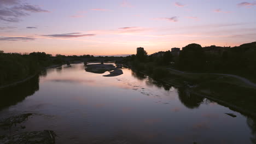
<path fill-rule="evenodd" d="M 176 69 L 172 69 L 172 68 L 167 68 L 173 71 L 176 71 L 178 73 L 182 73 L 182 74 L 195 74 L 195 75 L 223 75 L 223 76 L 230 76 L 230 77 L 235 77 L 236 79 L 239 79 L 243 82 L 245 82 L 247 85 L 252 86 L 254 88 L 256 88 L 256 83 L 253 83 L 251 81 L 249 81 L 248 79 L 246 79 L 245 77 L 241 77 L 241 76 L 237 76 L 237 75 L 231 75 L 231 74 L 217 74 L 217 73 L 188 73 L 185 71 L 180 71 L 180 70 L 176 70 Z"/>

